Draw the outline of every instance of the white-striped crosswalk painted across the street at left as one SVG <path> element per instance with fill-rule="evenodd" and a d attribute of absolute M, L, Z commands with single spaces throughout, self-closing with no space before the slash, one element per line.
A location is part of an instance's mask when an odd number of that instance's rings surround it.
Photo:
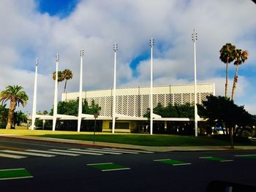
<path fill-rule="evenodd" d="M 122 154 L 154 153 L 143 150 L 124 150 L 115 148 L 68 148 L 68 149 L 48 149 L 48 150 L 0 150 L 0 158 L 28 158 L 37 157 L 55 157 L 57 155 L 79 156 L 79 155 L 122 155 Z"/>

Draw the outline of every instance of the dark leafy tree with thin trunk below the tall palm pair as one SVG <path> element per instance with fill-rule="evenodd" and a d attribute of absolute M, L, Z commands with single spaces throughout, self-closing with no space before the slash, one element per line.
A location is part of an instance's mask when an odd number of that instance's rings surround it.
<path fill-rule="evenodd" d="M 208 119 L 211 126 L 219 124 L 229 128 L 231 148 L 234 147 L 234 128 L 236 126 L 252 126 L 255 123 L 253 116 L 244 110 L 244 106 L 238 106 L 224 96 L 207 96 L 203 105 L 198 104 L 197 107 L 199 115 Z"/>

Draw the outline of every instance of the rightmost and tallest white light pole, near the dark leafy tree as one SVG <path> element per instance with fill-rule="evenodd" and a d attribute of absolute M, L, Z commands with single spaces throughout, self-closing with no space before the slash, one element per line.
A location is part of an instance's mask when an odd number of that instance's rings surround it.
<path fill-rule="evenodd" d="M 192 34 L 192 41 L 194 42 L 194 96 L 195 96 L 195 137 L 197 137 L 197 59 L 195 51 L 195 42 L 197 40 L 197 34 L 195 29 Z"/>

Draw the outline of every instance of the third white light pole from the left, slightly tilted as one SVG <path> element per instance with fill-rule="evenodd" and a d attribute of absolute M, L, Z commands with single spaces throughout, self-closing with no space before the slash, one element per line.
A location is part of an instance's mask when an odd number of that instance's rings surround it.
<path fill-rule="evenodd" d="M 79 82 L 79 101 L 78 101 L 78 132 L 80 132 L 82 120 L 82 88 L 83 88 L 83 55 L 84 50 L 80 50 L 80 82 Z"/>

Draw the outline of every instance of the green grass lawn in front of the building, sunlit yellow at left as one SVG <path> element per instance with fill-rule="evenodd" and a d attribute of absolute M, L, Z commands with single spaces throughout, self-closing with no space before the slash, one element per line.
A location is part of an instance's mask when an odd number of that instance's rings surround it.
<path fill-rule="evenodd" d="M 17 134 L 34 137 L 51 137 L 60 139 L 76 139 L 83 141 L 93 141 L 93 132 L 76 131 L 42 131 L 42 130 L 17 130 L 0 129 L 0 134 Z M 143 146 L 225 146 L 230 145 L 229 141 L 213 139 L 212 137 L 193 137 L 181 135 L 163 135 L 163 134 L 110 134 L 96 133 L 96 142 L 113 142 L 129 145 Z M 235 143 L 236 145 L 249 145 L 244 143 Z M 251 145 L 256 145 L 252 142 Z"/>

